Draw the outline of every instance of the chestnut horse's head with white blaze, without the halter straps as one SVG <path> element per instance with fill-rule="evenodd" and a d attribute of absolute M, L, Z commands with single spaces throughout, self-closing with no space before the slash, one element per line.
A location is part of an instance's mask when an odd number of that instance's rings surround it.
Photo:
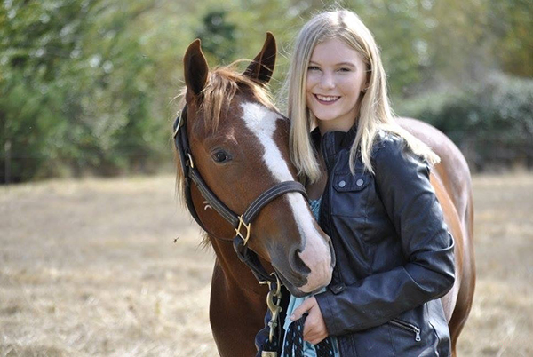
<path fill-rule="evenodd" d="M 184 57 L 187 138 L 195 168 L 219 201 L 238 214 L 269 188 L 298 180 L 290 162 L 290 122 L 265 88 L 275 56 L 274 36 L 268 33 L 243 73 L 230 67 L 210 70 L 200 40 L 188 46 Z M 195 185 L 191 196 L 209 236 L 230 242 L 235 228 L 206 204 Z M 295 296 L 330 282 L 335 263 L 330 237 L 300 193 L 282 194 L 264 206 L 251 223 L 247 244 L 271 263 Z"/>

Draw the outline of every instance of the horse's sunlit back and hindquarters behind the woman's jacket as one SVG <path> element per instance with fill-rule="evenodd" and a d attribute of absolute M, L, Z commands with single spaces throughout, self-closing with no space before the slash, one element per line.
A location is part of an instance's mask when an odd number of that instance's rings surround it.
<path fill-rule="evenodd" d="M 441 157 L 441 163 L 431 172 L 430 181 L 455 242 L 456 282 L 441 299 L 455 356 L 457 338 L 470 313 L 475 289 L 472 178 L 465 156 L 441 131 L 414 119 L 402 118 L 399 123 Z"/>

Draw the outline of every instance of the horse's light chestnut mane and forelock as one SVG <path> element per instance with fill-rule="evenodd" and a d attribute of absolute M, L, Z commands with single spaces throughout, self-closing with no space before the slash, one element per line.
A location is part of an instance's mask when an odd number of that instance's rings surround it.
<path fill-rule="evenodd" d="M 219 120 L 222 110 L 228 110 L 229 105 L 234 99 L 237 91 L 245 91 L 251 94 L 252 99 L 259 102 L 259 104 L 268 107 L 272 110 L 279 111 L 274 106 L 274 100 L 272 99 L 269 91 L 267 91 L 266 85 L 260 85 L 254 82 L 251 78 L 243 75 L 235 70 L 235 63 L 226 67 L 216 67 L 210 70 L 208 80 L 203 88 L 202 95 L 203 101 L 200 105 L 199 111 L 203 113 L 205 128 L 211 128 L 211 131 L 217 131 L 219 127 Z M 184 87 L 179 91 L 180 108 L 185 106 L 185 94 L 187 93 L 187 87 Z M 174 147 L 175 162 L 179 162 L 179 154 Z M 176 196 L 179 197 L 179 201 L 182 206 L 187 209 L 187 203 L 185 202 L 185 178 L 181 171 L 181 166 L 177 166 L 176 174 Z M 200 244 L 203 248 L 210 246 L 210 240 L 208 234 L 203 232 L 203 240 Z"/>

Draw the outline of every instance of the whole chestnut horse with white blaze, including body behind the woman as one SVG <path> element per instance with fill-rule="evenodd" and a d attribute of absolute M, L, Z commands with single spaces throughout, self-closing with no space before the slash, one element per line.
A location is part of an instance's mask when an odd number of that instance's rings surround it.
<path fill-rule="evenodd" d="M 189 45 L 184 57 L 187 137 L 194 164 L 206 185 L 234 212 L 243 213 L 269 187 L 298 179 L 290 163 L 290 123 L 264 88 L 274 71 L 275 56 L 274 36 L 268 33 L 263 49 L 243 74 L 229 68 L 210 71 L 199 40 Z M 442 298 L 455 355 L 475 280 L 470 173 L 463 155 L 440 131 L 413 119 L 401 124 L 442 158 L 432 171 L 431 183 L 455 238 L 457 280 Z M 178 171 L 185 192 L 183 181 L 183 172 Z M 217 256 L 210 321 L 219 354 L 254 356 L 254 337 L 264 327 L 267 312 L 267 289 L 237 258 L 231 244 L 234 226 L 206 204 L 195 185 L 190 185 L 190 197 Z M 335 262 L 330 238 L 314 221 L 302 194 L 284 194 L 268 203 L 252 223 L 249 246 L 296 296 L 330 282 Z"/>

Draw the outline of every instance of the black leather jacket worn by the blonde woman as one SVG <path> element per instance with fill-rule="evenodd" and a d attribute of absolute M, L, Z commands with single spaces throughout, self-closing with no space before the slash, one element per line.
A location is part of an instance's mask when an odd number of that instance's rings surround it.
<path fill-rule="evenodd" d="M 454 248 L 429 167 L 403 139 L 381 132 L 375 173 L 358 158 L 353 175 L 355 134 L 312 133 L 328 171 L 319 224 L 337 256 L 328 290 L 315 295 L 328 332 L 342 357 L 448 356 L 438 298 L 455 280 Z"/>

